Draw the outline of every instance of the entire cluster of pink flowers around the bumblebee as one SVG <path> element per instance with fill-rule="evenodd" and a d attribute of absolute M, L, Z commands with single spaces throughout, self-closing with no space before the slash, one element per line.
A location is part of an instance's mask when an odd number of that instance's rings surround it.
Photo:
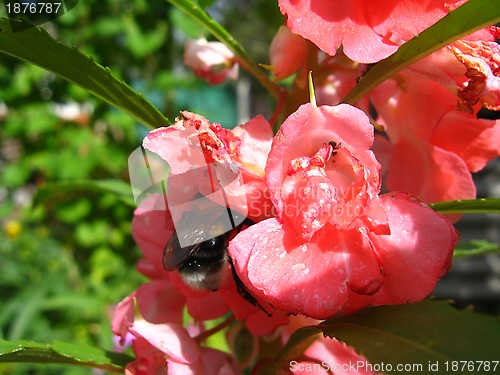
<path fill-rule="evenodd" d="M 500 109 L 498 29 L 428 56 L 356 106 L 339 103 L 364 64 L 394 53 L 463 2 L 279 0 L 288 27 L 270 46 L 269 67 L 278 81 L 293 74 L 296 80 L 283 106 L 293 109 L 277 133 L 263 116 L 227 130 L 184 111 L 175 124 L 147 135 L 143 147 L 170 168 L 170 197 L 181 203 L 209 197 L 251 222 L 227 238 L 230 262 L 218 289 L 203 290 L 162 267 L 176 224 L 173 207 L 160 209 L 161 195 L 141 203 L 132 233 L 144 254 L 138 270 L 150 282 L 125 298 L 113 319 L 121 342 L 132 338 L 137 359 L 129 374 L 232 374 L 264 366 L 205 345 L 215 333 L 207 321 L 230 313 L 240 321 L 233 326 L 254 337 L 274 335 L 282 346 L 315 319 L 420 301 L 433 291 L 451 266 L 458 233 L 425 202 L 474 198 L 471 172 L 500 155 L 500 123 L 477 117 L 482 107 Z M 234 59 L 207 43 L 188 45 L 186 63 L 220 83 Z M 196 49 L 203 52 L 198 60 Z M 307 103 L 301 98 L 309 70 L 316 100 Z M 210 195 L 212 173 L 225 181 L 219 198 Z M 259 343 L 253 341 L 252 353 Z M 282 369 L 298 374 L 306 368 L 300 364 L 326 361 L 343 373 L 341 364 L 366 361 L 327 338 L 304 354 Z"/>

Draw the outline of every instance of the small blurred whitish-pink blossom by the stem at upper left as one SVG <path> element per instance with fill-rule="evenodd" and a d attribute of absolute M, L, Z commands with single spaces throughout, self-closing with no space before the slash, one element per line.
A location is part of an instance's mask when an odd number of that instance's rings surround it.
<path fill-rule="evenodd" d="M 226 78 L 238 78 L 235 55 L 220 42 L 208 42 L 204 38 L 188 40 L 184 63 L 193 69 L 196 76 L 213 85 L 224 82 Z"/>

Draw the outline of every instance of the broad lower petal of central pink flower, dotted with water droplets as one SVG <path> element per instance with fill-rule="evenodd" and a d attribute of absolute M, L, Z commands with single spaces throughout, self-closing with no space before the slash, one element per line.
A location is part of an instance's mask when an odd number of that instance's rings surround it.
<path fill-rule="evenodd" d="M 367 240 L 360 231 L 330 227 L 304 243 L 268 219 L 238 234 L 229 253 L 256 297 L 324 319 L 341 312 L 350 294 L 370 295 L 380 287 L 380 265 Z"/>

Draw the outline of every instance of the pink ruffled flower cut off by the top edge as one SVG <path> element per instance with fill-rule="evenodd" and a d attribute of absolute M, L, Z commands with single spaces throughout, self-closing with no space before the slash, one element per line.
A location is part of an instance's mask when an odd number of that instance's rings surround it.
<path fill-rule="evenodd" d="M 333 56 L 374 63 L 464 3 L 439 0 L 279 0 L 290 30 Z"/>

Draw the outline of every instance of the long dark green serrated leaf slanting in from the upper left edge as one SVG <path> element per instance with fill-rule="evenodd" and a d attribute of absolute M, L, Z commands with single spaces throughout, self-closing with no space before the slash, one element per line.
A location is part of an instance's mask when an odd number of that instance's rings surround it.
<path fill-rule="evenodd" d="M 41 27 L 12 32 L 9 20 L 0 18 L 0 52 L 56 73 L 151 128 L 169 125 L 156 107 L 109 69 L 59 43 Z"/>

